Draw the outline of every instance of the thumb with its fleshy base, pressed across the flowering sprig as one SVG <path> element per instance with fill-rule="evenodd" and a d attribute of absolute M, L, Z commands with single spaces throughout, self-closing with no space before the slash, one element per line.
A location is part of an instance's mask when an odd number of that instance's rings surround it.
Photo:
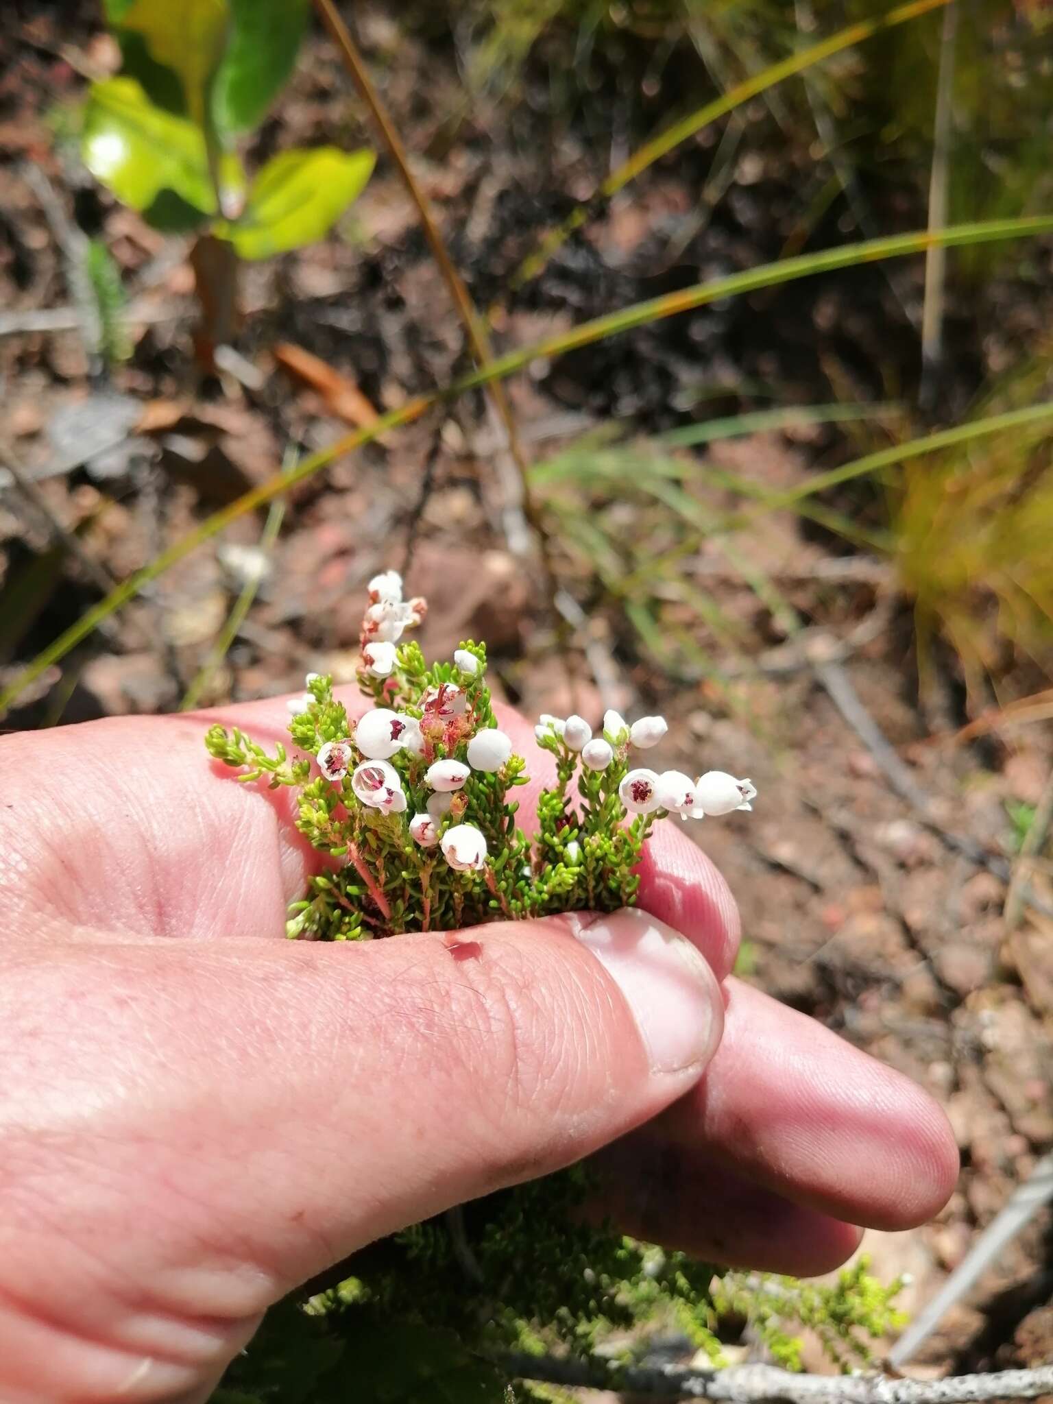
<path fill-rule="evenodd" d="M 65 1348 L 115 1353 L 105 1386 L 129 1401 L 192 1391 L 272 1300 L 371 1240 L 654 1116 L 722 1031 L 703 958 L 635 910 L 475 928 L 452 951 L 112 942 L 15 962 L 0 1163 L 22 1209 L 0 1223 L 0 1344 L 17 1287 Z M 8 1335 L 35 1383 L 41 1359 L 60 1367 Z"/>

